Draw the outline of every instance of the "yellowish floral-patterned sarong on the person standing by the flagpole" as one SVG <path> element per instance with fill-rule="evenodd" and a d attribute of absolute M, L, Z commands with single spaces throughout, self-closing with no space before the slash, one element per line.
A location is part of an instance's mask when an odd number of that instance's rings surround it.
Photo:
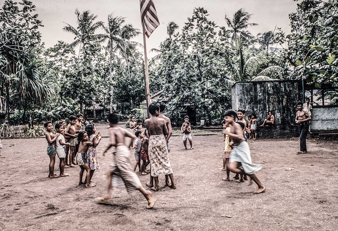
<path fill-rule="evenodd" d="M 151 166 L 151 176 L 171 174 L 172 169 L 168 157 L 167 142 L 164 135 L 150 136 L 148 154 Z"/>

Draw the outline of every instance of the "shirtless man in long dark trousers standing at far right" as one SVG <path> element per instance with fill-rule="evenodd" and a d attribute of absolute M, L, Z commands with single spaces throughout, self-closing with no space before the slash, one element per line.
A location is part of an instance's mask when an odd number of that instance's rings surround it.
<path fill-rule="evenodd" d="M 309 131 L 309 120 L 311 120 L 311 116 L 309 112 L 303 110 L 303 104 L 301 102 L 297 103 L 297 112 L 295 122 L 299 126 L 299 137 L 300 137 L 300 150 L 299 154 L 304 154 L 308 150 L 306 149 L 306 136 Z"/>

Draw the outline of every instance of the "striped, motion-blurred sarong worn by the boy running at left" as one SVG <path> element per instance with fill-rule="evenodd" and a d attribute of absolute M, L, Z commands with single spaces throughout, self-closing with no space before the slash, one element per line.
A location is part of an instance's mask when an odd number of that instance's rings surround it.
<path fill-rule="evenodd" d="M 114 152 L 114 161 L 110 166 L 112 167 L 113 186 L 120 187 L 124 184 L 127 192 L 132 193 L 138 190 L 142 184 L 130 165 L 129 155 L 127 146 L 117 146 L 116 152 Z"/>

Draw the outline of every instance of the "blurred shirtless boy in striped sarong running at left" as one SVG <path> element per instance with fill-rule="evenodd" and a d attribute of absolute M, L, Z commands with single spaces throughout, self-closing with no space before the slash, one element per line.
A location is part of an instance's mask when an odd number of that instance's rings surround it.
<path fill-rule="evenodd" d="M 145 190 L 142 187 L 142 184 L 137 177 L 137 175 L 132 171 L 132 167 L 129 163 L 129 147 L 132 145 L 135 140 L 135 135 L 128 132 L 126 129 L 117 126 L 119 121 L 119 116 L 115 113 L 112 113 L 108 116 L 110 133 L 110 145 L 104 151 L 103 155 L 105 155 L 106 151 L 111 147 L 115 146 L 116 151 L 113 153 L 114 155 L 114 163 L 111 165 L 112 169 L 107 172 L 108 179 L 108 187 L 105 196 L 95 198 L 95 201 L 99 203 L 109 203 L 110 200 L 110 190 L 112 187 L 112 177 L 113 178 L 121 178 L 126 186 L 126 190 L 128 193 L 133 192 L 134 190 L 139 190 L 143 196 L 147 199 L 148 205 L 147 208 L 152 208 L 155 204 L 156 199 L 151 197 L 151 192 Z M 129 147 L 125 145 L 124 137 L 127 136 L 131 138 L 129 143 Z"/>

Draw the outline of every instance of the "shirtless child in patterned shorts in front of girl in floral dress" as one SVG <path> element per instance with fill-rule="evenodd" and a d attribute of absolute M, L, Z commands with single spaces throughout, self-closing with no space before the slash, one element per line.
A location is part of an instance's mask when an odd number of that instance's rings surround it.
<path fill-rule="evenodd" d="M 90 168 L 87 162 L 87 151 L 89 146 L 93 146 L 93 142 L 88 141 L 88 135 L 86 132 L 80 131 L 77 136 L 78 142 L 80 143 L 79 152 L 76 154 L 76 162 L 80 166 L 80 184 L 86 184 L 86 187 L 94 187 L 96 184 L 90 182 Z M 87 171 L 86 182 L 82 181 L 84 170 Z"/>

